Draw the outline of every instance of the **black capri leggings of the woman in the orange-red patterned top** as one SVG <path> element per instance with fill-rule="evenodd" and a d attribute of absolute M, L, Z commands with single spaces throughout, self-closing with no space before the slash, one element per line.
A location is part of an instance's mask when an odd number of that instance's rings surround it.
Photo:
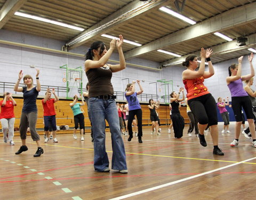
<path fill-rule="evenodd" d="M 218 124 L 217 106 L 212 94 L 190 99 L 188 105 L 199 124 L 209 124 L 209 126 Z"/>

